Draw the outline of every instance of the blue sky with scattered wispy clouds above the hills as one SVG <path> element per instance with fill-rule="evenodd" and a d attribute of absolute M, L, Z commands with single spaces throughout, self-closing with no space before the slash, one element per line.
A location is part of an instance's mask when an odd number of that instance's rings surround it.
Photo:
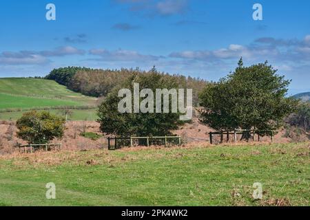
<path fill-rule="evenodd" d="M 45 6 L 56 5 L 56 21 Z M 263 20 L 254 21 L 260 3 Z M 45 76 L 68 65 L 140 67 L 206 80 L 269 61 L 310 91 L 310 1 L 2 0 L 0 77 Z"/>

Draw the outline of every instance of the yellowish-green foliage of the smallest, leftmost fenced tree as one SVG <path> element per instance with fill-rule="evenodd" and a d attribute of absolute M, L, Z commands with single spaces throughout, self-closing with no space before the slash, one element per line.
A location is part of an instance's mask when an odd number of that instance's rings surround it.
<path fill-rule="evenodd" d="M 30 144 L 47 144 L 63 137 L 65 119 L 48 111 L 30 111 L 17 120 L 17 136 Z"/>

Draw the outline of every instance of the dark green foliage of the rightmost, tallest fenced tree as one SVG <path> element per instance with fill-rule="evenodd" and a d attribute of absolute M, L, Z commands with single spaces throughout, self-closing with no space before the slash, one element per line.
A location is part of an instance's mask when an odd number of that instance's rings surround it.
<path fill-rule="evenodd" d="M 216 130 L 275 130 L 298 103 L 285 98 L 290 81 L 268 63 L 243 67 L 208 85 L 200 94 L 201 122 Z"/>

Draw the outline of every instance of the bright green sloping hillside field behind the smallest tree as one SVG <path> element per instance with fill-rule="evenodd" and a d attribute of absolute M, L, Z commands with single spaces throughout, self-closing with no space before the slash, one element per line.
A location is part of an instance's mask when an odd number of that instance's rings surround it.
<path fill-rule="evenodd" d="M 17 120 L 21 109 L 94 106 L 96 98 L 70 91 L 53 80 L 0 78 L 0 120 Z M 6 112 L 2 112 L 6 111 Z M 59 114 L 59 110 L 50 110 Z M 96 120 L 95 110 L 73 110 L 70 120 Z"/>

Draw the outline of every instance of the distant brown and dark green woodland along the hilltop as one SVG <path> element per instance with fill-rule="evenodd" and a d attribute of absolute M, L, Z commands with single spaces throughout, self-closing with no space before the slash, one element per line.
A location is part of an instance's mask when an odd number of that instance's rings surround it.
<path fill-rule="evenodd" d="M 102 97 L 112 91 L 115 87 L 123 85 L 125 80 L 132 74 L 147 74 L 157 72 L 155 67 L 148 72 L 141 69 L 90 69 L 86 67 L 63 67 L 53 69 L 46 79 L 54 80 L 68 89 L 79 92 L 87 96 Z M 198 105 L 198 94 L 203 90 L 207 81 L 200 78 L 180 76 L 177 74 L 162 74 L 164 78 L 174 78 L 178 82 L 178 87 L 183 89 L 193 89 L 193 103 Z"/>

